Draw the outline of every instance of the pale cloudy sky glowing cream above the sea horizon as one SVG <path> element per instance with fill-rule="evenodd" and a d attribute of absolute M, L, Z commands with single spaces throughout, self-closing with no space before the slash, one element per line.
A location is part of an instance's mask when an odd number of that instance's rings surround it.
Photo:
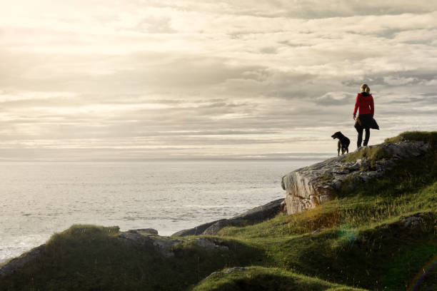
<path fill-rule="evenodd" d="M 383 2 L 383 3 L 381 3 Z M 324 158 L 437 126 L 437 1 L 0 0 L 0 160 Z"/>

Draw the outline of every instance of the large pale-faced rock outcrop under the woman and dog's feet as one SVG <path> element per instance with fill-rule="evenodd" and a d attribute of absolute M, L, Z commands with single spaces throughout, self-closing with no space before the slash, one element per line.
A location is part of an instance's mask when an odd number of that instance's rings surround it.
<path fill-rule="evenodd" d="M 282 212 L 292 214 L 315 208 L 335 198 L 338 190 L 343 188 L 345 180 L 352 182 L 348 183 L 348 188 L 353 188 L 359 181 L 367 183 L 393 169 L 399 159 L 423 155 L 430 148 L 423 141 L 403 141 L 366 146 L 358 151 L 373 147 L 383 148 L 383 152 L 391 158 L 377 160 L 374 165 L 370 165 L 366 158 L 360 158 L 355 162 L 343 162 L 346 155 L 341 155 L 284 175 L 281 185 L 283 190 L 286 190 L 286 199 L 281 205 Z"/>

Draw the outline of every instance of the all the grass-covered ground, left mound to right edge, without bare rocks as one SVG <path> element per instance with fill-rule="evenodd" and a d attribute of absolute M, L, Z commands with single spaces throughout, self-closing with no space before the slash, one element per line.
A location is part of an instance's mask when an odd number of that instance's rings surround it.
<path fill-rule="evenodd" d="M 120 242 L 117 228 L 74 225 L 39 260 L 1 278 L 0 290 L 437 290 L 437 133 L 386 142 L 403 140 L 433 148 L 313 210 L 209 237 L 228 250 L 183 238 L 164 258 L 151 243 Z M 411 215 L 416 228 L 405 227 Z M 234 266 L 246 270 L 199 284 Z"/>

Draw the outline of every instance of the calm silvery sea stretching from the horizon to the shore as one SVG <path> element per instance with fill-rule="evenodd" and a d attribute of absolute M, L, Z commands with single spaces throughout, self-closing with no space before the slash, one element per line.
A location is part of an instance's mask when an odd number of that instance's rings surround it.
<path fill-rule="evenodd" d="M 77 223 L 192 228 L 283 198 L 282 175 L 318 160 L 0 163 L 0 262 Z"/>

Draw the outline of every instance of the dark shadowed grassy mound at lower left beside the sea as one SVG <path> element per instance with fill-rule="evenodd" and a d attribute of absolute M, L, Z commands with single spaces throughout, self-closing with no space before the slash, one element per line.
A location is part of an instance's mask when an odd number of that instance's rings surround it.
<path fill-rule="evenodd" d="M 250 264 L 257 251 L 234 240 L 224 252 L 186 241 L 166 258 L 151 242 L 130 245 L 118 235 L 118 227 L 73 225 L 53 235 L 37 260 L 0 278 L 0 290 L 186 290 L 226 265 Z"/>

